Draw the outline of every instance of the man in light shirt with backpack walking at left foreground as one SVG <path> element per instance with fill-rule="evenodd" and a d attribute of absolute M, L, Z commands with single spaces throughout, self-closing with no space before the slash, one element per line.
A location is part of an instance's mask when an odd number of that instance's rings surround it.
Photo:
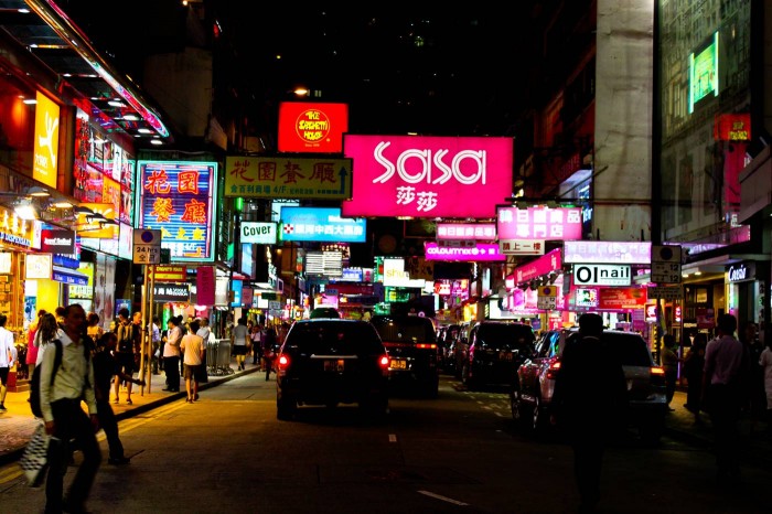
<path fill-rule="evenodd" d="M 62 364 L 54 371 L 56 352 L 45 351 L 41 364 L 40 405 L 45 421 L 45 432 L 51 436 L 49 446 L 49 474 L 45 484 L 45 512 L 86 512 L 85 503 L 101 462 L 96 431 L 99 428 L 94 393 L 94 366 L 84 347 L 86 340 L 86 311 L 79 303 L 64 309 Z M 51 349 L 49 349 L 51 350 Z M 81 400 L 88 407 L 86 416 Z M 62 497 L 64 475 L 69 462 L 71 440 L 83 452 L 83 462 L 69 485 L 66 500 Z"/>

